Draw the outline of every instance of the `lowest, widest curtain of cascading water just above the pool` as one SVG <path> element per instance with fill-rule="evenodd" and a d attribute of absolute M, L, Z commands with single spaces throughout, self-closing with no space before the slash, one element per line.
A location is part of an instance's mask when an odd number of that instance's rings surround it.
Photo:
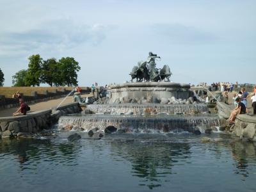
<path fill-rule="evenodd" d="M 72 125 L 90 131 L 95 127 L 104 131 L 108 126 L 114 126 L 121 132 L 194 132 L 215 127 L 220 124 L 218 116 L 120 116 L 120 115 L 90 115 L 61 116 L 59 127 Z"/>

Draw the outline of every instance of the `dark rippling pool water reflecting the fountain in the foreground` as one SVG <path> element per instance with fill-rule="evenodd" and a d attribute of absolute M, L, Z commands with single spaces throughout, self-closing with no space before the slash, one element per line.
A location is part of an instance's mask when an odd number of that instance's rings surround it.
<path fill-rule="evenodd" d="M 193 134 L 0 140 L 0 191 L 256 191 L 256 145 Z"/>

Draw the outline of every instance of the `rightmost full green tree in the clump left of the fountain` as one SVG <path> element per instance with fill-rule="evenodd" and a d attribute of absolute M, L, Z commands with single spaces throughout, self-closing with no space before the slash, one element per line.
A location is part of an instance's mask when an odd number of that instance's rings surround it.
<path fill-rule="evenodd" d="M 79 63 L 74 58 L 61 58 L 60 63 L 60 74 L 61 74 L 61 85 L 76 86 L 77 85 L 77 72 L 81 69 Z"/>

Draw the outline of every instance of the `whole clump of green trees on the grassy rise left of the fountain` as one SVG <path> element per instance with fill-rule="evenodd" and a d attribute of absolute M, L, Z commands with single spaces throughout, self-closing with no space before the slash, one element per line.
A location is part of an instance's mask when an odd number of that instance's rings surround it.
<path fill-rule="evenodd" d="M 77 85 L 77 72 L 81 68 L 74 58 L 55 58 L 42 60 L 39 54 L 29 57 L 28 70 L 20 70 L 13 76 L 14 86 L 40 86 L 47 83 L 50 86 Z"/>

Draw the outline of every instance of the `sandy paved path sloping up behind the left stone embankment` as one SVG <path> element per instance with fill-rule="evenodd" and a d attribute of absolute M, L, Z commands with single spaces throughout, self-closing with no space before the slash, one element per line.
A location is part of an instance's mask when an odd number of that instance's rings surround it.
<path fill-rule="evenodd" d="M 87 97 L 87 96 L 89 96 L 89 95 L 81 95 L 81 97 Z M 29 104 L 29 107 L 31 109 L 31 111 L 29 111 L 29 113 L 34 112 L 34 111 L 41 111 L 44 109 L 56 108 L 64 98 L 65 97 L 61 97 L 59 99 L 52 99 L 52 100 L 47 100 L 47 101 L 43 101 L 43 102 L 36 102 L 35 104 Z M 73 96 L 69 96 L 69 97 L 67 97 L 67 99 L 65 99 L 63 101 L 62 104 L 70 103 L 70 102 L 72 102 L 72 99 L 73 99 Z M 12 116 L 12 114 L 18 108 L 19 107 L 0 110 L 0 117 Z"/>

